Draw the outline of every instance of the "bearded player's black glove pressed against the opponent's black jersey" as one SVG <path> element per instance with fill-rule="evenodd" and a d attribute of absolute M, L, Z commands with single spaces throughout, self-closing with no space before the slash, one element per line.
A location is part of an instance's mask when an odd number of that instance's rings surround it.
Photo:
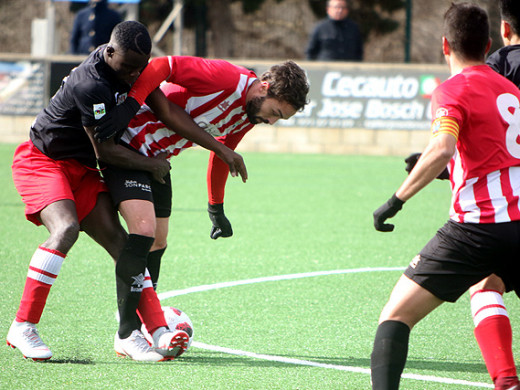
<path fill-rule="evenodd" d="M 114 135 L 118 137 L 128 127 L 128 123 L 137 114 L 141 106 L 134 98 L 128 97 L 126 100 L 110 110 L 95 127 L 94 138 L 98 142 L 105 142 Z"/>

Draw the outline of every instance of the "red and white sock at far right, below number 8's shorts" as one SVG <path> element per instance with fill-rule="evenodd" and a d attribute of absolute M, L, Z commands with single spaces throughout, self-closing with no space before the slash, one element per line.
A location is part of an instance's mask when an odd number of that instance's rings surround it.
<path fill-rule="evenodd" d="M 478 290 L 471 296 L 475 338 L 493 382 L 498 377 L 516 376 L 513 332 L 502 294 Z"/>

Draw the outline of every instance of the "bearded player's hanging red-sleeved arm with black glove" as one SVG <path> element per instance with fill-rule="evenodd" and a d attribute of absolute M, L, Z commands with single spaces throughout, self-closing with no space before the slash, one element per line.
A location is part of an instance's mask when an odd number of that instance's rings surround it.
<path fill-rule="evenodd" d="M 245 133 L 246 131 L 228 134 L 220 137 L 219 141 L 235 150 Z M 210 153 L 206 181 L 208 186 L 208 214 L 212 223 L 209 236 L 214 240 L 233 235 L 231 222 L 224 214 L 224 192 L 228 174 L 229 167 L 215 153 Z"/>

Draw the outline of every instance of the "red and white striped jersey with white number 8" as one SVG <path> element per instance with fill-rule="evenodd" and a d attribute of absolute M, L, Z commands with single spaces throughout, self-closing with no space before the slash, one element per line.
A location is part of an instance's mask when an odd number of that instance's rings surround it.
<path fill-rule="evenodd" d="M 487 65 L 465 68 L 432 96 L 434 120 L 459 127 L 450 168 L 450 218 L 464 223 L 520 220 L 520 92 Z"/>

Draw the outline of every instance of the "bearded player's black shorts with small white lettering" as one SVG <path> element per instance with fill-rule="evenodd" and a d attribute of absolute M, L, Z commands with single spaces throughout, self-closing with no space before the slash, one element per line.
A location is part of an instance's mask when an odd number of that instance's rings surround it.
<path fill-rule="evenodd" d="M 168 218 L 172 212 L 172 183 L 170 174 L 164 177 L 165 184 L 152 179 L 145 171 L 133 171 L 106 165 L 103 178 L 116 208 L 124 200 L 142 199 L 153 202 L 155 216 Z"/>

